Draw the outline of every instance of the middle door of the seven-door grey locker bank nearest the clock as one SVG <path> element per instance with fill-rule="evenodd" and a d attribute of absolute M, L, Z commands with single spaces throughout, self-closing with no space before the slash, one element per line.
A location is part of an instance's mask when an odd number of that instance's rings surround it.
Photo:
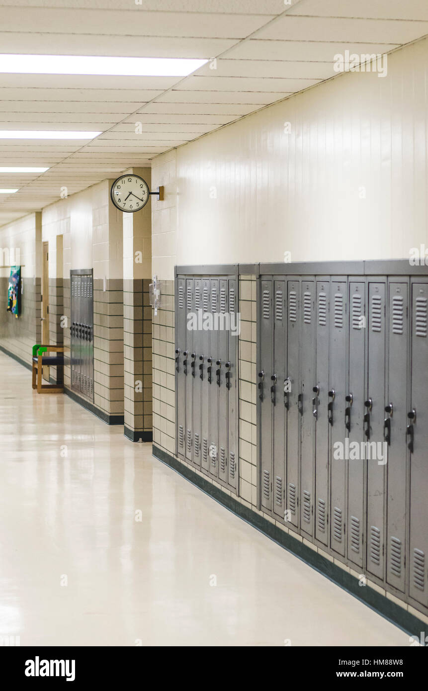
<path fill-rule="evenodd" d="M 202 307 L 203 314 L 210 312 L 210 278 L 202 281 Z M 198 377 L 201 381 L 201 467 L 208 471 L 209 446 L 210 446 L 210 381 L 212 366 L 208 362 L 210 358 L 210 330 L 205 329 L 201 333 L 201 354 L 198 360 Z M 210 370 L 207 368 L 210 367 Z"/>

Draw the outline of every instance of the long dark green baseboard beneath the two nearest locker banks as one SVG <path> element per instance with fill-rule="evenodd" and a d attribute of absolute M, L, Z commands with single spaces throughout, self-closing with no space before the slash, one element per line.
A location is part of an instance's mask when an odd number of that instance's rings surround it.
<path fill-rule="evenodd" d="M 162 463 L 173 468 L 177 473 L 183 475 L 186 480 L 189 480 L 189 482 L 192 482 L 192 484 L 210 495 L 217 502 L 223 504 L 223 507 L 238 515 L 239 518 L 245 520 L 245 522 L 249 523 L 253 528 L 261 531 L 261 533 L 268 538 L 277 542 L 278 545 L 306 562 L 306 564 L 313 567 L 316 571 L 319 571 L 320 574 L 332 580 L 333 583 L 346 590 L 349 594 L 357 598 L 357 600 L 360 600 L 360 602 L 371 607 L 371 609 L 374 609 L 375 612 L 381 614 L 403 631 L 412 636 L 419 636 L 418 632 L 426 629 L 427 625 L 422 620 L 418 619 L 417 616 L 410 614 L 410 612 L 406 612 L 400 605 L 396 605 L 392 600 L 389 600 L 368 585 L 358 585 L 357 578 L 348 574 L 347 571 L 344 571 L 344 569 L 333 564 L 333 562 L 321 556 L 321 554 L 310 549 L 310 547 L 304 545 L 300 540 L 293 538 L 289 533 L 284 532 L 276 525 L 270 523 L 266 518 L 255 513 L 244 504 L 236 501 L 232 496 L 205 480 L 205 477 L 201 477 L 201 475 L 194 473 L 192 468 L 188 468 L 183 463 L 180 463 L 180 461 L 167 453 L 167 451 L 156 446 L 156 444 L 153 444 L 153 456 Z"/>

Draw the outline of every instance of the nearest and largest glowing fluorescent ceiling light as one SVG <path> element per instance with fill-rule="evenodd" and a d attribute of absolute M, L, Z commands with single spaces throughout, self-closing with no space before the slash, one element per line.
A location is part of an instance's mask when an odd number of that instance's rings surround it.
<path fill-rule="evenodd" d="M 187 57 L 0 54 L 0 72 L 27 75 L 186 77 L 207 60 Z"/>

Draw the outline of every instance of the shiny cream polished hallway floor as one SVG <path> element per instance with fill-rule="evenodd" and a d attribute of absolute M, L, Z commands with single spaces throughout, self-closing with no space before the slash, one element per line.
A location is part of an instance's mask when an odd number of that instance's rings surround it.
<path fill-rule="evenodd" d="M 37 395 L 1 352 L 0 381 L 0 635 L 21 645 L 409 645 L 149 444 L 65 395 Z"/>

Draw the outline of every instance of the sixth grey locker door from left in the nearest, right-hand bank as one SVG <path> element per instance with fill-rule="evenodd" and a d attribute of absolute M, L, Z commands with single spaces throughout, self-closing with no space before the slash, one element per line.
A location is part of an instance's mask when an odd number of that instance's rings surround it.
<path fill-rule="evenodd" d="M 330 319 L 330 372 L 328 386 L 328 422 L 331 439 L 331 549 L 345 554 L 346 511 L 346 463 L 336 458 L 336 442 L 345 446 L 345 396 L 346 396 L 346 281 L 331 282 L 333 314 Z M 344 453 L 343 453 L 344 456 Z"/>

